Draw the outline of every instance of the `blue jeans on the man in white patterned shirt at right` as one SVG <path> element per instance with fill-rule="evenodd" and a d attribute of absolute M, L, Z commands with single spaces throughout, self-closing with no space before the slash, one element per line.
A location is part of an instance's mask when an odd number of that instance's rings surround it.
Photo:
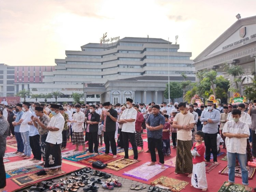
<path fill-rule="evenodd" d="M 236 156 L 238 158 L 241 171 L 242 171 L 242 184 L 248 185 L 248 170 L 246 169 L 246 154 L 239 153 L 230 153 L 227 152 L 228 155 L 228 181 L 234 183 L 235 176 L 235 166 L 236 166 Z"/>

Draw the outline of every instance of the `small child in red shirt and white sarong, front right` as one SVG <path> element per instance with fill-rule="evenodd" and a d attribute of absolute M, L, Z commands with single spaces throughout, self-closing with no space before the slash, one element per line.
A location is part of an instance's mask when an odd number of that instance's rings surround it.
<path fill-rule="evenodd" d="M 207 180 L 205 174 L 205 162 L 204 162 L 204 152 L 205 145 L 202 142 L 204 133 L 202 131 L 197 131 L 195 134 L 195 142 L 191 149 L 191 154 L 193 155 L 193 173 L 191 177 L 191 187 L 197 189 L 202 189 L 202 191 L 207 190 Z"/>

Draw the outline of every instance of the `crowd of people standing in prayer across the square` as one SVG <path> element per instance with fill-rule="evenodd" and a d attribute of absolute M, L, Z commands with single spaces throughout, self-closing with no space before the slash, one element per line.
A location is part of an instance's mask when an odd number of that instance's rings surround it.
<path fill-rule="evenodd" d="M 144 129 L 148 142 L 145 151 Z M 144 151 L 151 154 L 148 166 L 155 165 L 158 154 L 161 168 L 165 169 L 164 156 L 171 155 L 171 137 L 172 150 L 176 150 L 175 174 L 187 174 L 191 177 L 191 186 L 203 191 L 207 190 L 205 161 L 210 162 L 213 154 L 213 163 L 218 164 L 220 140 L 223 140 L 229 168 L 226 185 L 234 183 L 234 169 L 239 162 L 242 184 L 248 190 L 246 165 L 256 158 L 255 129 L 256 100 L 223 106 L 216 106 L 210 100 L 206 103 L 136 105 L 130 98 L 123 105 L 110 102 L 63 106 L 40 102 L 23 102 L 15 106 L 0 104 L 0 190 L 6 185 L 3 157 L 8 136 L 17 141 L 15 154 L 28 159 L 32 151 L 30 160 L 45 169 L 55 170 L 55 174 L 62 173 L 61 150 L 66 149 L 67 142 L 75 145 L 75 151 L 84 152 L 88 144 L 89 153 L 98 153 L 103 138 L 103 155 L 108 155 L 111 147 L 113 158 L 116 158 L 119 146 L 124 148 L 124 159 L 127 159 L 130 142 L 134 162 L 138 161 L 138 151 Z"/>

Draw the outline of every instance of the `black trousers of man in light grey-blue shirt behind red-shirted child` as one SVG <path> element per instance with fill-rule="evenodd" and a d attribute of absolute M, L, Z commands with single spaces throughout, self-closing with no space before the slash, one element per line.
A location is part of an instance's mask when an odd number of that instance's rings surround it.
<path fill-rule="evenodd" d="M 204 133 L 205 144 L 205 160 L 210 161 L 211 150 L 213 154 L 213 161 L 217 162 L 217 133 Z"/>

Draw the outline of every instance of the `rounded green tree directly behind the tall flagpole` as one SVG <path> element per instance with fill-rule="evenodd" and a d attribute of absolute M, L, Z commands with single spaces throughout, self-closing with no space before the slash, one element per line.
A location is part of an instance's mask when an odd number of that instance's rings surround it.
<path fill-rule="evenodd" d="M 163 95 L 165 96 L 166 99 L 169 98 L 168 94 L 168 83 L 166 84 L 166 89 L 163 92 Z M 174 102 L 174 99 L 182 97 L 183 91 L 181 88 L 181 83 L 180 82 L 170 82 L 170 99 L 172 102 Z"/>

